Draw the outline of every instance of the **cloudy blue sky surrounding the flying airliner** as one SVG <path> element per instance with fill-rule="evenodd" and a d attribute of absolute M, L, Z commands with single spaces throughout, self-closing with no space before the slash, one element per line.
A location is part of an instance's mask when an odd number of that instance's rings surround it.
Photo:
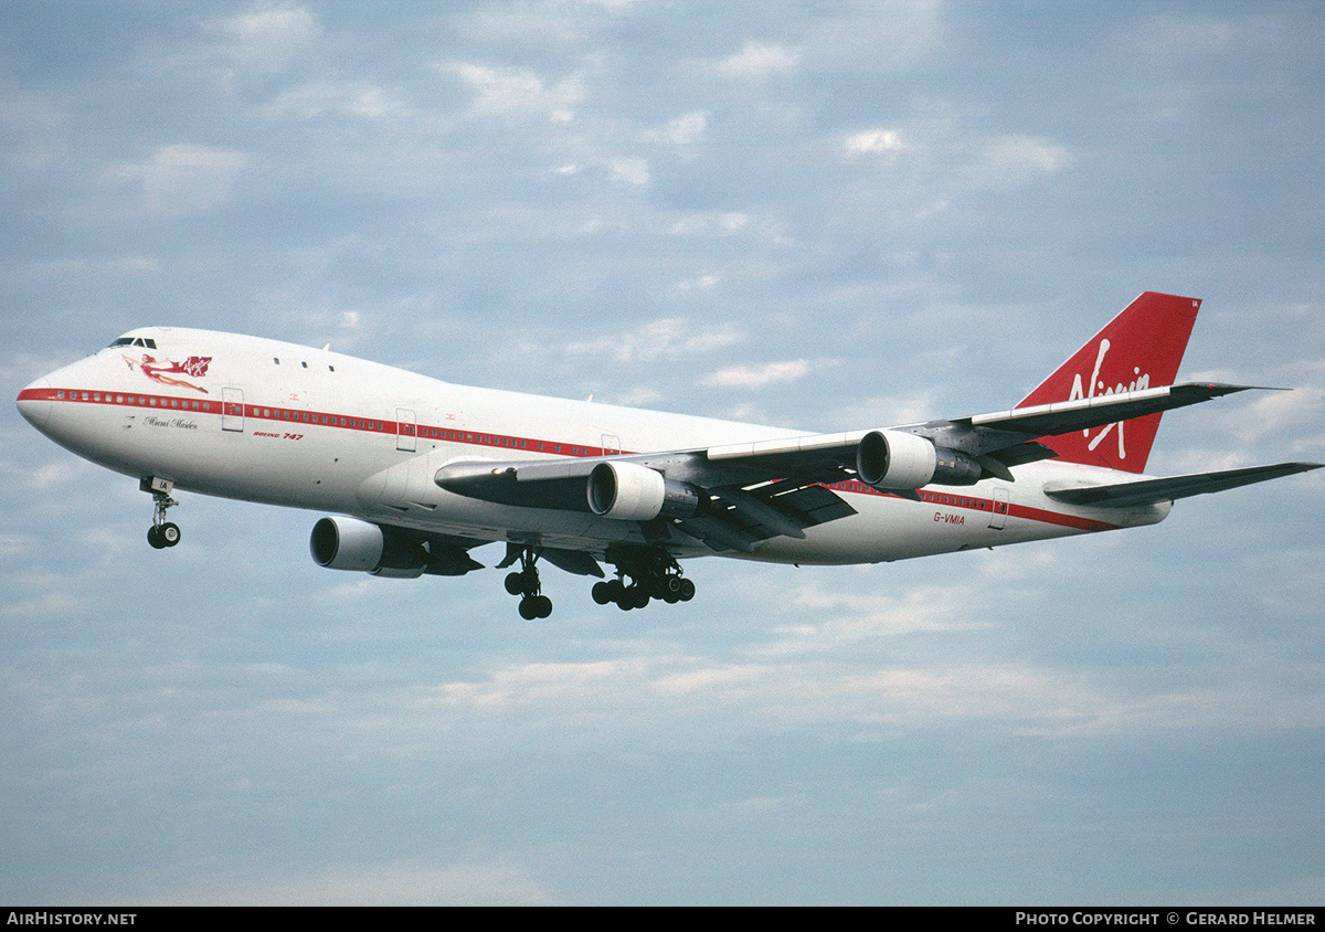
<path fill-rule="evenodd" d="M 1204 300 L 1158 473 L 1325 460 L 1312 4 L 0 12 L 0 375 L 146 323 L 811 431 L 1007 407 Z M 0 416 L 0 899 L 1306 903 L 1310 473 L 909 563 L 321 570 Z M 476 552 L 492 565 L 500 554 Z"/>

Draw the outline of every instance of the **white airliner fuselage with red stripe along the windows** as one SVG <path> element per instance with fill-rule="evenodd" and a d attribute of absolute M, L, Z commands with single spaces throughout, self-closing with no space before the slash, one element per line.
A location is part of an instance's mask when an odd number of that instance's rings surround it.
<path fill-rule="evenodd" d="M 449 384 L 337 353 L 256 337 L 144 327 L 28 386 L 20 410 L 76 453 L 135 477 L 248 501 L 333 512 L 476 542 L 529 540 L 602 553 L 644 542 L 637 522 L 517 508 L 439 488 L 457 460 L 681 451 L 804 431 Z M 775 537 L 750 559 L 855 563 L 1153 524 L 1169 505 L 1073 506 L 1045 483 L 1136 479 L 1067 463 L 1016 481 L 928 487 L 921 501 L 845 481 L 856 514 Z M 677 555 L 713 553 L 696 542 Z M 737 554 L 733 554 L 737 555 Z"/>

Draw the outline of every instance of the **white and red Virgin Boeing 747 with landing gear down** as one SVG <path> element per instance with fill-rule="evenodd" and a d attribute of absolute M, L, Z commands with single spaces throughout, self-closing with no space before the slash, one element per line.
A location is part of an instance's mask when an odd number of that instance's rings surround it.
<path fill-rule="evenodd" d="M 678 561 L 863 563 L 1154 524 L 1174 500 L 1316 469 L 1143 476 L 1170 408 L 1248 386 L 1173 384 L 1200 302 L 1147 292 L 1016 407 L 804 434 L 448 384 L 258 337 L 143 327 L 25 387 L 19 410 L 139 480 L 179 544 L 176 491 L 329 512 L 318 565 L 380 577 L 497 563 L 545 618 L 539 562 L 594 601 L 689 601 Z M 608 577 L 603 563 L 612 567 Z"/>

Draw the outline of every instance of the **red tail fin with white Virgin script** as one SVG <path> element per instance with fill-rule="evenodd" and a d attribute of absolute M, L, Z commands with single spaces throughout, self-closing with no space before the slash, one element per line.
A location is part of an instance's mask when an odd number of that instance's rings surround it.
<path fill-rule="evenodd" d="M 1019 408 L 1076 398 L 1113 395 L 1173 384 L 1187 349 L 1200 301 L 1146 292 L 1090 338 Z M 1088 431 L 1043 437 L 1060 460 L 1142 472 L 1159 430 L 1159 415 L 1134 418 Z"/>

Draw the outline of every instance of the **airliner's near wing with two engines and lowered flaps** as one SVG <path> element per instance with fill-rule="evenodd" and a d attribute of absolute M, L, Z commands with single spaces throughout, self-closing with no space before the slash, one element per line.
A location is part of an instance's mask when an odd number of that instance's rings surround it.
<path fill-rule="evenodd" d="M 749 553 L 770 537 L 804 537 L 806 528 L 855 514 L 825 488 L 845 479 L 906 497 L 918 497 L 916 491 L 931 484 L 974 485 L 990 476 L 1014 481 L 1012 467 L 1055 456 L 1036 437 L 1101 427 L 1249 387 L 1186 383 L 955 420 L 660 453 L 464 460 L 439 469 L 433 481 L 448 492 L 505 505 L 637 521 L 657 544 L 672 540 L 677 529 L 714 550 Z M 1132 489 L 1133 496 L 1141 493 Z M 1079 495 L 1085 492 L 1064 491 L 1064 496 Z"/>

